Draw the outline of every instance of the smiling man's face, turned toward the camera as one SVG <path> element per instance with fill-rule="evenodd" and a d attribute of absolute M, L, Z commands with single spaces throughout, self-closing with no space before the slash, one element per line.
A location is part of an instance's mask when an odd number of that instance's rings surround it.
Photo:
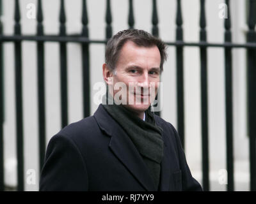
<path fill-rule="evenodd" d="M 161 55 L 157 46 L 139 47 L 132 41 L 127 41 L 120 50 L 116 62 L 113 75 L 114 97 L 120 92 L 120 89 L 115 90 L 115 85 L 118 85 L 116 83 L 123 82 L 126 93 L 122 89 L 121 91 L 122 94 L 126 94 L 125 106 L 137 113 L 145 112 L 152 99 L 156 98 L 157 82 L 160 80 L 160 62 Z M 118 97 L 119 95 L 120 93 Z"/>

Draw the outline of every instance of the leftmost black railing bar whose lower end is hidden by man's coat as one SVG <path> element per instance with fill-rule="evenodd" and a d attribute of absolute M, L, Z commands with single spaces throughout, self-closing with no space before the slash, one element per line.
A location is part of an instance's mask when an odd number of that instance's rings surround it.
<path fill-rule="evenodd" d="M 38 0 L 37 36 L 44 35 L 42 1 Z M 39 127 L 39 163 L 40 170 L 45 156 L 45 83 L 44 83 L 44 42 L 37 42 L 37 78 L 38 78 L 38 127 Z"/>

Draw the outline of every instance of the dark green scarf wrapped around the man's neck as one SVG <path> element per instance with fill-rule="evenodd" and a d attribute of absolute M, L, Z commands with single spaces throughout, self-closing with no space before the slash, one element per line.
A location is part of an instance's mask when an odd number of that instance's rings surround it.
<path fill-rule="evenodd" d="M 108 100 L 109 99 L 113 100 L 110 94 Z M 106 95 L 104 95 L 103 101 L 104 100 L 106 101 Z M 140 152 L 157 191 L 159 187 L 161 161 L 163 158 L 163 139 L 161 136 L 163 129 L 156 125 L 154 113 L 148 108 L 148 110 L 145 111 L 144 121 L 123 105 L 116 105 L 115 102 L 113 105 L 111 105 L 111 103 L 102 105 L 109 115 L 120 124 L 131 138 L 138 152 Z"/>

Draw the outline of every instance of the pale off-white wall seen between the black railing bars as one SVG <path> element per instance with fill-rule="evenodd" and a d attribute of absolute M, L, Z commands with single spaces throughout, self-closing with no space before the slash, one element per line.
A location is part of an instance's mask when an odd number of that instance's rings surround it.
<path fill-rule="evenodd" d="M 244 42 L 243 28 L 244 5 L 242 1 L 232 1 L 233 40 Z M 35 0 L 20 1 L 22 33 L 35 34 L 36 20 L 26 18 L 26 5 L 37 3 Z M 211 42 L 223 42 L 223 19 L 219 18 L 221 0 L 206 1 L 207 39 Z M 65 1 L 67 15 L 67 33 L 81 32 L 81 0 Z M 37 6 L 37 5 L 36 5 Z M 92 39 L 102 40 L 105 36 L 106 1 L 87 1 L 89 29 Z M 184 40 L 199 40 L 198 0 L 183 0 L 182 15 Z M 164 41 L 175 40 L 176 1 L 157 1 L 159 14 L 159 36 Z M 43 1 L 45 34 L 58 34 L 58 17 L 60 1 Z M 113 34 L 127 29 L 128 1 L 112 0 Z M 13 33 L 14 1 L 3 1 L 4 34 Z M 151 31 L 152 1 L 134 0 L 134 27 Z M 24 170 L 36 170 L 36 185 L 26 184 L 27 191 L 38 190 L 38 118 L 37 118 L 37 78 L 36 78 L 36 44 L 25 41 L 22 43 L 23 68 L 23 108 L 24 108 Z M 47 142 L 60 131 L 60 59 L 58 43 L 45 43 L 45 99 L 46 99 L 46 134 Z M 245 107 L 245 61 L 244 50 L 233 50 L 234 65 L 234 147 L 236 171 L 245 172 L 245 179 L 237 174 L 236 179 L 246 181 L 248 178 L 248 140 L 246 138 L 246 107 Z M 175 47 L 168 48 L 168 61 L 164 65 L 161 77 L 163 81 L 163 119 L 177 127 L 176 105 L 176 58 Z M 81 78 L 81 47 L 77 43 L 68 43 L 68 122 L 76 122 L 83 118 L 82 78 Z M 104 63 L 104 46 L 90 46 L 90 80 L 91 97 L 93 85 L 102 80 L 102 64 Z M 218 171 L 225 169 L 225 68 L 222 48 L 208 50 L 208 93 L 209 93 L 209 157 L 212 190 L 225 190 L 218 184 Z M 15 91 L 14 91 L 14 55 L 13 44 L 4 43 L 4 85 L 5 85 L 5 121 L 4 121 L 4 159 L 5 162 L 15 158 Z M 184 98 L 185 98 L 185 133 L 186 157 L 192 174 L 200 182 L 201 173 L 201 117 L 200 117 L 200 55 L 196 47 L 184 48 Z M 92 114 L 97 104 L 91 101 Z M 247 165 L 247 166 L 246 166 Z M 10 173 L 10 175 L 9 175 Z M 247 174 L 246 174 L 247 173 Z M 14 179 L 13 179 L 14 178 Z M 241 179 L 242 178 L 242 179 Z M 8 171 L 6 183 L 15 182 L 15 173 Z M 236 189 L 248 189 L 248 182 L 237 183 Z"/>

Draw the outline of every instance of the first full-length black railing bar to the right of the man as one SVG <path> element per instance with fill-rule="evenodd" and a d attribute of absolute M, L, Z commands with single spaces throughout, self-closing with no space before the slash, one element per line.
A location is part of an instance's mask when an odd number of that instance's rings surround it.
<path fill-rule="evenodd" d="M 206 41 L 205 0 L 200 0 L 200 42 Z M 208 100 L 207 100 L 207 48 L 200 47 L 201 108 L 202 108 L 202 166 L 203 188 L 209 191 Z"/>

